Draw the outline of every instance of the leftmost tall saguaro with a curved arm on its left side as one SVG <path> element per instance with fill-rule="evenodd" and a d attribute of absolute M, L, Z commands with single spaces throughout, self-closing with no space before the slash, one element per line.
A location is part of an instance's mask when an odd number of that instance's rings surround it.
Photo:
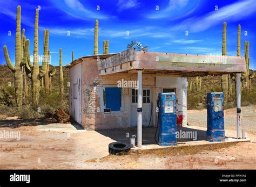
<path fill-rule="evenodd" d="M 23 30 L 23 35 L 25 30 Z M 22 92 L 23 92 L 23 71 L 22 66 L 22 40 L 21 40 L 21 6 L 17 7 L 17 15 L 16 15 L 16 35 L 15 35 L 15 66 L 12 65 L 8 49 L 4 46 L 4 57 L 7 66 L 14 73 L 14 81 L 15 81 L 15 93 L 16 93 L 16 103 L 18 106 L 22 105 Z"/>

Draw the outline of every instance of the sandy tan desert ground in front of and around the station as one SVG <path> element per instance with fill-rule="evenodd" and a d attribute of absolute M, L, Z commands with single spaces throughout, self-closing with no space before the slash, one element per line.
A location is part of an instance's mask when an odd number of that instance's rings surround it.
<path fill-rule="evenodd" d="M 225 111 L 225 129 L 235 133 L 236 109 Z M 52 119 L 0 120 L 0 169 L 256 169 L 256 107 L 242 107 L 242 129 L 251 142 L 133 150 L 108 155 L 111 138 Z M 206 127 L 206 110 L 188 111 L 190 125 Z"/>

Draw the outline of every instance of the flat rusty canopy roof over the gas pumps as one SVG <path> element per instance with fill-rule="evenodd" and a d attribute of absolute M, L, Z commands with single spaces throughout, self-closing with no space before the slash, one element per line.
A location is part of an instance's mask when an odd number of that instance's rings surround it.
<path fill-rule="evenodd" d="M 97 62 L 99 75 L 136 73 L 173 74 L 182 77 L 223 75 L 246 71 L 244 57 L 134 52 L 128 49 Z"/>

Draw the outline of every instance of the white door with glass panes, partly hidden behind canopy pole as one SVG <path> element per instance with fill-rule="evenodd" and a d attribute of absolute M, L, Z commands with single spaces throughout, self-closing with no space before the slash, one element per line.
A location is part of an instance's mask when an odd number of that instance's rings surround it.
<path fill-rule="evenodd" d="M 131 89 L 131 126 L 137 126 L 137 107 L 138 107 L 138 90 Z M 152 123 L 151 116 L 151 102 L 152 102 L 152 92 L 151 88 L 143 89 L 143 98 L 142 98 L 142 125 L 149 126 L 149 123 Z"/>

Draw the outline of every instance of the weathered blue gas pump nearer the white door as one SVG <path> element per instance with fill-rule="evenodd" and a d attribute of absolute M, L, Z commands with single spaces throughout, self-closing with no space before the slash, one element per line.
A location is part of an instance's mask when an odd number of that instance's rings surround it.
<path fill-rule="evenodd" d="M 158 94 L 158 144 L 160 146 L 177 146 L 176 94 Z"/>

